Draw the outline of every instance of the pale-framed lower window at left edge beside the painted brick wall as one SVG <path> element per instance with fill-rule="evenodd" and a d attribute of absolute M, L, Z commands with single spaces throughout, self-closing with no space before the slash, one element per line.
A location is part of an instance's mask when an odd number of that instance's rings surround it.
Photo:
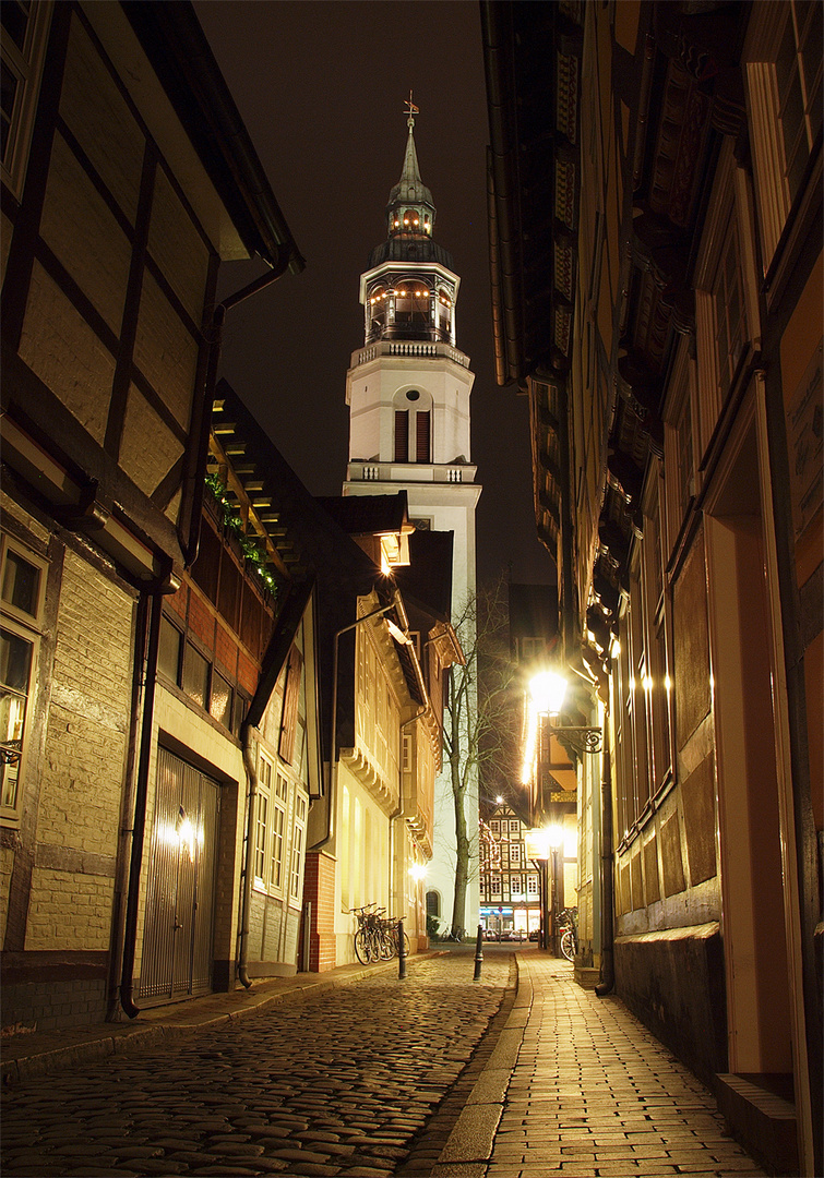
<path fill-rule="evenodd" d="M 0 812 L 18 818 L 34 673 L 39 655 L 46 564 L 4 537 L 0 598 Z"/>

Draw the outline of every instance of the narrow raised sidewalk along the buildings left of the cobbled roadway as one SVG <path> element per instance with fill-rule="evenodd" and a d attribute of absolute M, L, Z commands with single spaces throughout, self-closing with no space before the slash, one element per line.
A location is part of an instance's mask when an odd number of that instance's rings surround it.
<path fill-rule="evenodd" d="M 427 954 L 416 954 L 410 961 Z M 98 1023 L 88 1027 L 33 1031 L 0 1039 L 2 1085 L 14 1085 L 35 1076 L 78 1067 L 107 1055 L 172 1043 L 219 1026 L 230 1019 L 256 1014 L 268 1006 L 302 1001 L 314 994 L 347 986 L 368 974 L 394 971 L 397 961 L 345 965 L 327 973 L 298 973 L 291 978 L 256 978 L 251 990 L 238 986 L 228 993 L 205 994 L 172 1005 L 150 1006 L 130 1020 Z"/>

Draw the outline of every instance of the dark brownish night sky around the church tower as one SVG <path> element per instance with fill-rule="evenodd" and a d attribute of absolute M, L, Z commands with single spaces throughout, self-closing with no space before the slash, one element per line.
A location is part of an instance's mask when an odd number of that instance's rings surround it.
<path fill-rule="evenodd" d="M 345 373 L 363 345 L 358 280 L 385 238 L 407 140 L 404 102 L 437 210 L 435 240 L 461 276 L 457 345 L 470 357 L 479 577 L 554 580 L 532 511 L 527 401 L 493 363 L 486 146 L 475 0 L 195 0 L 286 223 L 306 259 L 229 312 L 222 375 L 314 495 L 340 495 Z M 223 267 L 219 294 L 259 264 Z"/>

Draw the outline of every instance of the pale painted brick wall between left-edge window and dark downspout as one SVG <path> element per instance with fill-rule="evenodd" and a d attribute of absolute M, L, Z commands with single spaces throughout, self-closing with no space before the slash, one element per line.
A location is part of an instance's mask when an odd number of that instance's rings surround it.
<path fill-rule="evenodd" d="M 65 557 L 26 948 L 106 948 L 131 703 L 132 601 Z M 71 862 L 57 862 L 60 853 Z"/>

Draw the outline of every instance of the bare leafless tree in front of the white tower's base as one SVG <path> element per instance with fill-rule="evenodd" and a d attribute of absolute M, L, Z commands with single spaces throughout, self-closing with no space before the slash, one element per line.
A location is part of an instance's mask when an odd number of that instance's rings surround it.
<path fill-rule="evenodd" d="M 475 815 L 472 828 L 468 823 L 467 800 L 479 781 L 489 788 L 500 780 L 508 792 L 516 772 L 506 578 L 469 595 L 454 624 L 466 663 L 451 668 L 444 708 L 444 762 L 455 806 L 453 935 L 466 928 L 472 847 L 477 839 Z"/>

